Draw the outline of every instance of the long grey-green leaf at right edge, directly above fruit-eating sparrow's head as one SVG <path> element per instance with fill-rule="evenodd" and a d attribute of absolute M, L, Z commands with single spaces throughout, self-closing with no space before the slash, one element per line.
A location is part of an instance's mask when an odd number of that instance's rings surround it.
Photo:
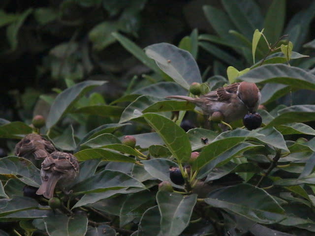
<path fill-rule="evenodd" d="M 252 83 L 281 83 L 298 89 L 315 90 L 315 76 L 307 71 L 285 64 L 266 64 L 239 77 Z"/>

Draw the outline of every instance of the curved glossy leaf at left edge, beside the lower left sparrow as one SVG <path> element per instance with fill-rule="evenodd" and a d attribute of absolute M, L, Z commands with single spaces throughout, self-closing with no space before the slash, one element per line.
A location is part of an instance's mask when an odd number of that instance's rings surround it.
<path fill-rule="evenodd" d="M 22 157 L 8 156 L 1 158 L 0 174 L 18 176 L 22 182 L 34 187 L 39 187 L 41 183 L 39 170 L 31 161 Z"/>

